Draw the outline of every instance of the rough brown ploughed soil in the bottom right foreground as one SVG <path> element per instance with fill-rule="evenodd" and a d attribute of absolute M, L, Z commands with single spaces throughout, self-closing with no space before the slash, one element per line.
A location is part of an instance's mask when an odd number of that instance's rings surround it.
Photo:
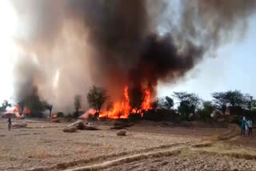
<path fill-rule="evenodd" d="M 158 157 L 142 161 L 134 161 L 118 165 L 104 171 L 166 171 L 166 170 L 256 170 L 255 161 L 232 159 L 220 155 L 178 155 L 173 157 Z"/>

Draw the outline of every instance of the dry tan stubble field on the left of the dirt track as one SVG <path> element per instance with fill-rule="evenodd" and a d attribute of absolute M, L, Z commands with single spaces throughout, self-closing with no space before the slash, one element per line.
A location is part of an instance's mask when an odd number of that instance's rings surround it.
<path fill-rule="evenodd" d="M 118 157 L 190 145 L 223 130 L 162 128 L 142 123 L 144 125 L 128 128 L 125 137 L 118 137 L 115 130 L 110 130 L 111 125 L 99 125 L 101 130 L 97 131 L 63 133 L 62 129 L 70 123 L 24 122 L 28 128 L 8 132 L 6 120 L 0 119 L 0 153 L 4 155 L 0 156 L 0 170 L 62 170 L 92 165 Z"/>

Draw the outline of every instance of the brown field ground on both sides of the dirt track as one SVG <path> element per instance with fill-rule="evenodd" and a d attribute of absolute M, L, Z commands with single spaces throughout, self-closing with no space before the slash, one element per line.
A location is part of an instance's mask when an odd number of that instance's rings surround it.
<path fill-rule="evenodd" d="M 162 127 L 147 122 L 128 128 L 126 137 L 118 137 L 117 130 L 110 129 L 110 124 L 98 125 L 100 130 L 97 131 L 79 130 L 78 133 L 63 133 L 62 129 L 70 123 L 43 120 L 17 122 L 26 122 L 27 128 L 8 131 L 6 119 L 0 119 L 0 170 L 72 169 L 133 154 L 190 146 L 202 142 L 206 137 L 226 131 L 211 128 Z M 225 160 L 229 162 L 224 162 Z M 245 162 L 244 159 L 193 153 L 188 156 L 179 154 L 173 157 L 144 159 L 106 170 L 211 169 L 218 161 L 222 161 L 219 164 L 220 169 L 232 169 L 233 166 L 239 169 L 239 162 L 246 163 L 246 167 L 250 169 L 256 169 L 254 161 L 251 160 Z M 234 163 L 232 167 L 230 162 Z"/>

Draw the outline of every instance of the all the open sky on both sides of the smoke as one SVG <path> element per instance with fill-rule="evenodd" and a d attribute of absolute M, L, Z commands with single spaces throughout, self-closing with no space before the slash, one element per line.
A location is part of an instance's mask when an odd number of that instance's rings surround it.
<path fill-rule="evenodd" d="M 6 16 L 8 16 L 6 18 Z M 13 96 L 12 66 L 16 53 L 12 36 L 17 30 L 17 16 L 8 4 L 0 0 L 0 103 Z M 256 97 L 256 15 L 250 18 L 245 37 L 222 46 L 214 57 L 205 57 L 186 77 L 172 84 L 158 85 L 158 97 L 171 95 L 175 91 L 198 93 L 205 100 L 211 93 L 230 89 L 241 90 Z"/>

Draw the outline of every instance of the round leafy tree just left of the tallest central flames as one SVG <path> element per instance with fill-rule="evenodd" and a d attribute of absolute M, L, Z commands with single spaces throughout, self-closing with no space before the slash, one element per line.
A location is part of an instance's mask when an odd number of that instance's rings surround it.
<path fill-rule="evenodd" d="M 103 105 L 109 97 L 106 95 L 106 89 L 93 86 L 87 94 L 87 101 L 92 109 L 96 110 L 96 113 L 100 113 Z"/>

